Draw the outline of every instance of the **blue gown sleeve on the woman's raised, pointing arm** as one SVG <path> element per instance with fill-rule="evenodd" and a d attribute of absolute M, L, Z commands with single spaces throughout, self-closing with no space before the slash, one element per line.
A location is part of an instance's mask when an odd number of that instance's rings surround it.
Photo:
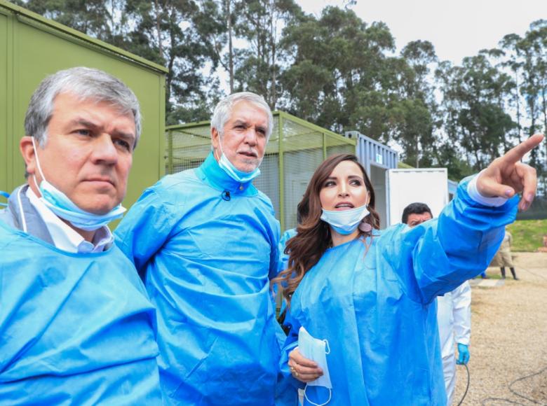
<path fill-rule="evenodd" d="M 470 180 L 461 181 L 438 218 L 414 228 L 396 225 L 381 236 L 382 255 L 415 302 L 431 303 L 480 274 L 501 244 L 505 225 L 515 221 L 518 196 L 487 207 L 469 197 Z"/>

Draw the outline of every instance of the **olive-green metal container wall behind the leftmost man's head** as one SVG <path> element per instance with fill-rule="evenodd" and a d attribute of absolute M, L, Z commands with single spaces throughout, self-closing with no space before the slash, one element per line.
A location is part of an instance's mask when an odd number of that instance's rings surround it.
<path fill-rule="evenodd" d="M 0 190 L 11 193 L 25 183 L 19 141 L 25 135 L 23 121 L 32 92 L 49 74 L 73 66 L 111 73 L 140 101 L 142 136 L 123 202 L 129 207 L 165 174 L 168 70 L 4 0 L 0 0 Z"/>

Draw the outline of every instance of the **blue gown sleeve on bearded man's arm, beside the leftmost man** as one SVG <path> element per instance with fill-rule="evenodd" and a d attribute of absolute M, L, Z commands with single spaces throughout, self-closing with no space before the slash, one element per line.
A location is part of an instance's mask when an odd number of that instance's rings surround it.
<path fill-rule="evenodd" d="M 116 245 L 133 261 L 141 276 L 147 262 L 165 244 L 175 222 L 181 218 L 184 202 L 179 200 L 166 201 L 154 188 L 144 190 L 116 228 Z"/>

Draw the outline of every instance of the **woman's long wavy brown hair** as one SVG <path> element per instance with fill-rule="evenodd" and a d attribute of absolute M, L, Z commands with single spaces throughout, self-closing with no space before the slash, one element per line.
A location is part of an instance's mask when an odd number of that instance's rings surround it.
<path fill-rule="evenodd" d="M 370 202 L 368 204 L 370 214 L 363 221 L 369 223 L 373 229 L 379 229 L 380 227 L 380 218 L 376 210 L 374 210 L 374 189 L 365 172 L 365 168 L 359 163 L 357 157 L 351 154 L 337 154 L 323 161 L 316 169 L 316 172 L 313 173 L 313 176 L 311 176 L 302 202 L 298 204 L 298 217 L 301 223 L 297 227 L 297 235 L 292 237 L 285 247 L 285 253 L 289 255 L 288 269 L 280 272 L 272 280 L 272 283 L 278 283 L 283 286 L 283 297 L 287 300 L 288 307 L 290 307 L 292 294 L 295 293 L 306 272 L 313 265 L 316 265 L 323 256 L 323 253 L 332 244 L 329 225 L 320 219 L 322 209 L 319 193 L 330 174 L 332 174 L 332 171 L 343 161 L 355 162 L 361 169 L 361 172 L 363 172 L 363 180 L 370 195 Z M 359 230 L 358 237 L 370 233 Z"/>

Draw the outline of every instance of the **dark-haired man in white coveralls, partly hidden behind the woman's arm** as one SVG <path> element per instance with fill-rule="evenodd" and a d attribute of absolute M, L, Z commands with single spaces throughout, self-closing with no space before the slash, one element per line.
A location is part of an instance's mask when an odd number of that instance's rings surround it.
<path fill-rule="evenodd" d="M 433 214 L 427 204 L 412 203 L 403 210 L 402 222 L 416 227 L 431 220 Z M 471 338 L 471 286 L 464 282 L 452 292 L 437 297 L 437 322 L 443 372 L 447 393 L 447 406 L 452 405 L 456 386 L 456 356 L 454 342 L 458 344 L 458 364 L 467 364 L 469 360 L 469 340 Z"/>

